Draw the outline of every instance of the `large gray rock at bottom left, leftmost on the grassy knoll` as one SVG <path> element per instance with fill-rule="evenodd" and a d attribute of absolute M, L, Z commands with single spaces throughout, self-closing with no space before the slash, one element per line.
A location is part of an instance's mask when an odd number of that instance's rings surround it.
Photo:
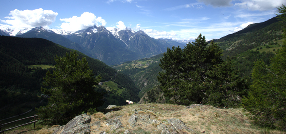
<path fill-rule="evenodd" d="M 90 123 L 91 118 L 86 114 L 82 114 L 74 117 L 60 130 L 60 134 L 73 134 L 73 133 L 90 133 Z"/>

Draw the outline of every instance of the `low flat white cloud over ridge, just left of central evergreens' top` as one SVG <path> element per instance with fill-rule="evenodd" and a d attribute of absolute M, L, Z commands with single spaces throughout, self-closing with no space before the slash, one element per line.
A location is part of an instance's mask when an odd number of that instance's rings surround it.
<path fill-rule="evenodd" d="M 178 35 L 174 32 L 166 32 L 166 31 L 157 31 L 153 29 L 143 29 L 143 31 L 153 38 L 168 38 L 175 39 Z"/>

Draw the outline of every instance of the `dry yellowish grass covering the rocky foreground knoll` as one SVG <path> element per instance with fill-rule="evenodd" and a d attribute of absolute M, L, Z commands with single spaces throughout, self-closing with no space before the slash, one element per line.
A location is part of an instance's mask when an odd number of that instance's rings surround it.
<path fill-rule="evenodd" d="M 209 105 L 186 108 L 182 105 L 171 104 L 135 104 L 120 107 L 119 111 L 112 111 L 107 114 L 101 112 L 91 115 L 91 133 L 124 133 L 129 130 L 132 133 L 160 133 L 157 125 L 160 123 L 169 126 L 167 119 L 177 118 L 182 120 L 187 127 L 195 133 L 281 133 L 276 130 L 261 129 L 251 124 L 251 120 L 246 116 L 243 109 L 219 109 Z M 157 123 L 140 124 L 131 127 L 128 123 L 129 117 L 134 114 L 134 109 L 139 110 L 137 116 L 150 115 L 150 119 L 157 120 Z M 106 125 L 106 120 L 118 118 L 123 124 L 122 129 L 111 131 L 111 126 Z M 100 122 L 100 123 L 98 123 Z M 55 126 L 58 127 L 58 126 Z M 51 133 L 51 128 L 43 128 L 37 132 L 30 133 Z M 179 133 L 191 133 L 188 131 L 178 131 Z"/>

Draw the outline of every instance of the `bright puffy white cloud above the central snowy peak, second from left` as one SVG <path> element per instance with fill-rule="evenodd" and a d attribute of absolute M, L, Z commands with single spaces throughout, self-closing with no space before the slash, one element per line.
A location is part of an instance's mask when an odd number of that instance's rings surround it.
<path fill-rule="evenodd" d="M 106 22 L 101 17 L 96 17 L 93 13 L 84 12 L 80 17 L 73 16 L 71 18 L 60 19 L 64 21 L 61 28 L 67 31 L 76 31 L 81 29 L 87 29 L 94 25 L 101 23 L 103 26 L 106 25 Z"/>

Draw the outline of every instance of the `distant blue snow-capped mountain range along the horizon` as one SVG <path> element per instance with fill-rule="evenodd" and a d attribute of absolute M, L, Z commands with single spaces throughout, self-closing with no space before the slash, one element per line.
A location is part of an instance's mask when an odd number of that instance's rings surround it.
<path fill-rule="evenodd" d="M 167 47 L 183 47 L 189 40 L 155 39 L 144 31 L 130 28 L 119 29 L 92 26 L 78 31 L 25 28 L 16 32 L 0 30 L 0 35 L 24 38 L 43 38 L 66 48 L 78 50 L 85 55 L 99 59 L 107 65 L 121 64 L 130 60 L 152 57 L 164 53 Z"/>

